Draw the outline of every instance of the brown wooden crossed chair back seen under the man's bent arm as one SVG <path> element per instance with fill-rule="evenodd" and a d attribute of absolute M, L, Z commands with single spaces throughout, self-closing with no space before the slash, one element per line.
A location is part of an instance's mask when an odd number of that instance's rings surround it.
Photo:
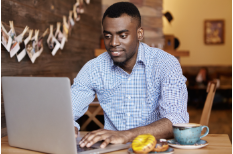
<path fill-rule="evenodd" d="M 95 117 L 96 115 L 104 115 L 103 109 L 101 108 L 99 102 L 92 102 L 89 105 L 87 112 L 85 113 L 89 118 L 81 126 L 80 130 L 85 131 L 87 125 L 93 120 L 100 128 L 104 128 L 104 125 Z"/>

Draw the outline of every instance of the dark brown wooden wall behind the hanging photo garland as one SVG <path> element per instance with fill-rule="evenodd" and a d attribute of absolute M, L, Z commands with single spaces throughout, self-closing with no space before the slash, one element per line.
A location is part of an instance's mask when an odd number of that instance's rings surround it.
<path fill-rule="evenodd" d="M 1 20 L 7 31 L 10 29 L 9 21 L 12 20 L 17 35 L 27 25 L 30 29 L 39 29 L 40 36 L 50 24 L 56 29 L 56 23 L 63 22 L 63 15 L 68 18 L 69 11 L 73 9 L 75 3 L 76 0 L 2 0 Z M 91 0 L 89 5 L 84 5 L 84 9 L 85 12 L 72 29 L 64 49 L 59 50 L 55 56 L 52 56 L 47 47 L 47 36 L 43 41 L 44 51 L 34 64 L 27 55 L 21 62 L 17 61 L 16 56 L 10 58 L 9 53 L 1 45 L 2 76 L 69 77 L 72 83 L 82 66 L 94 58 L 94 49 L 100 48 L 101 0 Z M 6 130 L 3 128 L 4 103 L 1 105 L 2 130 Z"/>

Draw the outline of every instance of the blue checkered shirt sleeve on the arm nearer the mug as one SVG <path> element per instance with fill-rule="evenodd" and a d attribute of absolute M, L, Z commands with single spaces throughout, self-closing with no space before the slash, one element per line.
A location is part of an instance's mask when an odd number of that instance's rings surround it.
<path fill-rule="evenodd" d="M 188 92 L 185 84 L 187 79 L 183 76 L 178 62 L 169 62 L 164 69 L 167 71 L 161 83 L 160 118 L 167 118 L 173 124 L 188 123 Z"/>

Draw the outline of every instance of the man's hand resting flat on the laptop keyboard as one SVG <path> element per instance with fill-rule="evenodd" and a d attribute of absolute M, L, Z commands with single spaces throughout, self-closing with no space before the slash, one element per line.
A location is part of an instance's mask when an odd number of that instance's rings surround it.
<path fill-rule="evenodd" d="M 98 141 L 104 140 L 100 145 L 101 148 L 105 148 L 109 143 L 120 144 L 127 143 L 130 140 L 128 131 L 112 131 L 106 129 L 99 129 L 90 133 L 87 133 L 79 142 L 81 147 L 91 147 Z"/>

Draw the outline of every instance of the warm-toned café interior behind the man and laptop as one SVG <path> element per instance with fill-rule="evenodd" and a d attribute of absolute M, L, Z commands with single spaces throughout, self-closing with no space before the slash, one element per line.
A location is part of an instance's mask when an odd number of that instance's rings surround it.
<path fill-rule="evenodd" d="M 35 57 L 28 52 L 12 53 L 2 39 L 1 76 L 68 77 L 72 84 L 86 62 L 105 52 L 102 15 L 120 0 L 80 1 L 81 11 L 75 15 L 75 4 L 79 0 L 2 0 L 2 29 L 4 27 L 6 32 L 14 29 L 16 36 L 26 29 L 23 39 L 34 30 L 32 37 L 37 35 L 43 48 Z M 140 11 L 144 29 L 142 42 L 163 49 L 179 60 L 187 78 L 189 122 L 200 123 L 208 85 L 215 83 L 208 111 L 209 133 L 227 134 L 232 142 L 232 1 L 125 1 L 134 3 Z M 61 25 L 63 30 L 68 25 L 68 33 L 63 32 L 66 41 L 62 49 L 54 51 L 48 46 L 48 40 Z M 84 131 L 103 128 L 104 116 L 98 98 L 78 122 Z M 1 137 L 6 136 L 2 95 Z"/>

